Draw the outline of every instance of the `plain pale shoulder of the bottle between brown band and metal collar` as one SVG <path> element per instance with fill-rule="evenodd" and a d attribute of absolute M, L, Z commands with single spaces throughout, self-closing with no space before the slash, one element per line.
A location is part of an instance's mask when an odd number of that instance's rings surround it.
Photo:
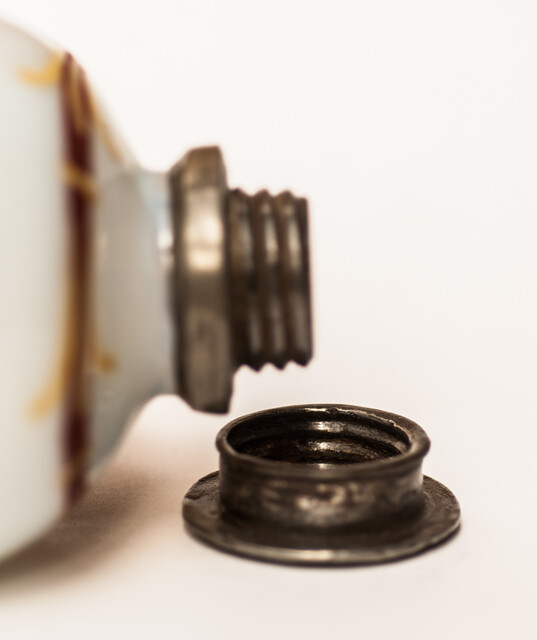
<path fill-rule="evenodd" d="M 93 477 L 126 423 L 173 388 L 168 273 L 157 246 L 158 218 L 169 218 L 166 180 L 134 169 L 117 173 L 103 185 L 95 214 L 96 325 L 117 365 L 93 380 Z"/>

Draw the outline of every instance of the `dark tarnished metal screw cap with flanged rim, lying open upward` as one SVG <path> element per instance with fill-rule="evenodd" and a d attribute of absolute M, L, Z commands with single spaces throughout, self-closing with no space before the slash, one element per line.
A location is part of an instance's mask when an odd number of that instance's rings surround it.
<path fill-rule="evenodd" d="M 260 411 L 216 440 L 220 471 L 187 493 L 189 531 L 225 551 L 289 564 L 371 564 L 433 547 L 460 509 L 422 475 L 430 441 L 401 416 L 350 405 Z"/>

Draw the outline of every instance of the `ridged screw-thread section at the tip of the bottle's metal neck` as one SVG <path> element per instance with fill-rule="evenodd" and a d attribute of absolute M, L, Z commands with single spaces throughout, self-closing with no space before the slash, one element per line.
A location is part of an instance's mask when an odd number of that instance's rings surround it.
<path fill-rule="evenodd" d="M 237 366 L 311 358 L 308 213 L 288 191 L 228 192 L 231 322 Z"/>

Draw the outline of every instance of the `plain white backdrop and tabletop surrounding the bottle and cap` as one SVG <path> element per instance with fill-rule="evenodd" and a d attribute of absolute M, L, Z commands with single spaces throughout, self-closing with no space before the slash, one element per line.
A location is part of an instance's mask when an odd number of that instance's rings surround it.
<path fill-rule="evenodd" d="M 232 185 L 308 196 L 315 360 L 241 371 L 232 415 L 406 415 L 463 509 L 452 542 L 381 567 L 226 556 L 181 520 L 226 418 L 159 399 L 71 517 L 0 568 L 0 637 L 537 638 L 537 5 L 0 0 L 0 15 L 78 57 L 149 167 L 219 143 Z"/>

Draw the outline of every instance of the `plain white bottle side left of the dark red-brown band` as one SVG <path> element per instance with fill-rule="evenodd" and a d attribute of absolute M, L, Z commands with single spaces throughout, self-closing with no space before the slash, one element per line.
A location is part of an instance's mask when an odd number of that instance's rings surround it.
<path fill-rule="evenodd" d="M 62 347 L 67 234 L 60 101 L 21 81 L 50 53 L 0 22 L 0 557 L 62 512 L 61 406 L 34 415 Z"/>

